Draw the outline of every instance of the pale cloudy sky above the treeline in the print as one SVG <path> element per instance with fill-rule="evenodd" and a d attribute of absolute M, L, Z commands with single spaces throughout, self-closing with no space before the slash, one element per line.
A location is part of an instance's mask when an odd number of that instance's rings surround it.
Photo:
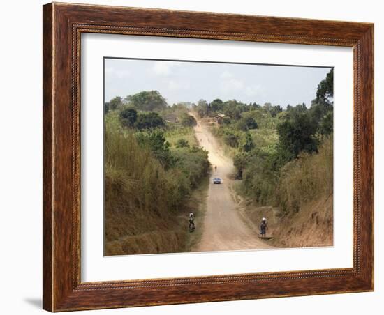
<path fill-rule="evenodd" d="M 263 105 L 297 105 L 316 97 L 330 68 L 105 59 L 105 101 L 140 91 L 158 90 L 177 102 L 239 100 Z"/>

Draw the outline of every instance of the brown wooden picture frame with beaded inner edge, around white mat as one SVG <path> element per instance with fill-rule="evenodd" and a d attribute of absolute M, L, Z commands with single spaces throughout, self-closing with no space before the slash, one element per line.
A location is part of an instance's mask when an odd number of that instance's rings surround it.
<path fill-rule="evenodd" d="M 353 268 L 80 281 L 80 34 L 353 47 Z M 52 312 L 374 290 L 374 24 L 43 6 L 43 308 Z"/>

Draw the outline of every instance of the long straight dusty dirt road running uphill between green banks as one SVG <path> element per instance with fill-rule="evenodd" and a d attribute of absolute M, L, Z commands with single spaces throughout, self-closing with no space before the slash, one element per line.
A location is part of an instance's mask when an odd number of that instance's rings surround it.
<path fill-rule="evenodd" d="M 192 251 L 206 252 L 270 247 L 258 238 L 258 231 L 252 231 L 245 224 L 236 209 L 237 204 L 232 198 L 231 181 L 228 178 L 233 171 L 232 160 L 223 155 L 222 149 L 212 133 L 200 121 L 195 126 L 195 135 L 200 146 L 209 152 L 209 162 L 213 166 L 216 165 L 217 170 L 212 171 L 209 180 L 207 211 L 202 226 L 202 238 Z M 214 177 L 221 178 L 221 185 L 213 184 Z"/>

